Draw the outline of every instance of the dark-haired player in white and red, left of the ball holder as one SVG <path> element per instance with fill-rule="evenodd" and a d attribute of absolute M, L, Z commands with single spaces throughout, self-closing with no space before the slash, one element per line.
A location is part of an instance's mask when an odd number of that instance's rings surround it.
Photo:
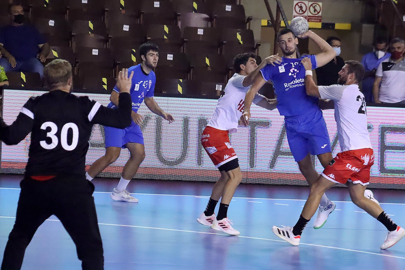
<path fill-rule="evenodd" d="M 220 170 L 221 177 L 214 185 L 207 208 L 201 213 L 197 221 L 231 235 L 240 234 L 230 225 L 227 211 L 235 189 L 242 181 L 242 172 L 239 168 L 238 156 L 230 145 L 228 133 L 234 133 L 238 130 L 238 121 L 242 115 L 246 91 L 259 70 L 267 64 L 279 64 L 281 61 L 281 57 L 278 55 L 271 55 L 260 65 L 257 65 L 255 58 L 254 53 L 241 53 L 234 58 L 233 67 L 236 73 L 229 79 L 224 89 L 225 94 L 218 100 L 211 120 L 201 136 L 201 144 L 215 168 Z M 256 94 L 254 103 L 273 110 L 276 108 L 277 101 Z M 220 208 L 215 218 L 215 206 L 221 197 Z"/>

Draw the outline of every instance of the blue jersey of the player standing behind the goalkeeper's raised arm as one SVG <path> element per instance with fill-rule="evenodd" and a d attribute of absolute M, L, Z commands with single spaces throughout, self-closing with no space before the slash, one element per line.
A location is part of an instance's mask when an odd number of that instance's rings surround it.
<path fill-rule="evenodd" d="M 153 70 L 149 74 L 145 74 L 141 68 L 141 64 L 128 68 L 128 76 L 131 71 L 134 72 L 134 76 L 132 76 L 130 95 L 132 100 L 132 111 L 136 113 L 145 97 L 153 97 L 156 76 Z M 114 91 L 119 93 L 117 85 L 115 85 Z M 107 107 L 114 108 L 115 105 L 113 102 L 110 102 Z"/>

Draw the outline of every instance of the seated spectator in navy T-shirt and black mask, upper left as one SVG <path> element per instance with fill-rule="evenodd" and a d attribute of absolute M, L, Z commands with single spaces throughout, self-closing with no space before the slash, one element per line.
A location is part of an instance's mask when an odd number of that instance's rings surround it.
<path fill-rule="evenodd" d="M 11 23 L 0 29 L 0 66 L 8 71 L 38 72 L 43 77 L 43 65 L 49 53 L 49 44 L 34 28 L 24 23 L 23 7 L 11 4 Z M 42 62 L 42 63 L 41 63 Z"/>

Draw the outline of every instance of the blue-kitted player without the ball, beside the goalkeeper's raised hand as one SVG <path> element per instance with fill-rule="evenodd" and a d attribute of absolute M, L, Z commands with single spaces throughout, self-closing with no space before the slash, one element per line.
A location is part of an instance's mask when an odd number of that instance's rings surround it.
<path fill-rule="evenodd" d="M 121 148 L 128 148 L 130 151 L 130 158 L 126 162 L 122 170 L 122 177 L 113 193 L 110 195 L 111 199 L 123 202 L 138 202 L 138 199 L 130 196 L 126 187 L 130 180 L 134 178 L 139 165 L 145 158 L 145 147 L 143 145 L 143 134 L 141 127 L 142 115 L 137 113 L 142 102 L 152 111 L 160 115 L 169 123 L 174 121 L 171 114 L 165 113 L 153 99 L 153 91 L 155 89 L 156 76 L 153 68 L 156 68 L 159 60 L 159 48 L 153 43 L 144 43 L 139 47 L 142 62 L 136 66 L 128 68 L 128 74 L 133 71 L 132 85 L 130 89 L 132 99 L 132 123 L 128 128 L 123 130 L 118 128 L 110 128 L 105 126 L 105 147 L 106 153 L 104 156 L 97 159 L 89 170 L 86 172 L 87 180 L 91 181 L 107 166 L 115 162 L 119 157 Z M 118 104 L 119 90 L 117 86 L 111 92 L 110 104 L 108 107 L 115 108 Z"/>

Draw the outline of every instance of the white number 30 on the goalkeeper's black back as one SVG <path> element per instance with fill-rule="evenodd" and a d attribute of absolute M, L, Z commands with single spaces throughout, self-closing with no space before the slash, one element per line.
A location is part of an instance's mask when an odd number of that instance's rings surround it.
<path fill-rule="evenodd" d="M 47 132 L 47 137 L 51 138 L 51 143 L 48 144 L 46 140 L 41 140 L 39 144 L 47 149 L 53 149 L 58 145 L 58 137 L 55 136 L 56 132 L 58 132 L 58 126 L 53 122 L 45 122 L 41 125 L 41 130 L 46 130 L 47 128 L 51 128 L 50 132 Z M 73 136 L 72 136 L 72 143 L 68 144 L 68 130 L 71 129 Z M 77 142 L 79 141 L 79 128 L 75 123 L 66 123 L 63 125 L 62 130 L 60 131 L 60 144 L 62 145 L 63 149 L 66 151 L 72 151 L 77 147 Z"/>

